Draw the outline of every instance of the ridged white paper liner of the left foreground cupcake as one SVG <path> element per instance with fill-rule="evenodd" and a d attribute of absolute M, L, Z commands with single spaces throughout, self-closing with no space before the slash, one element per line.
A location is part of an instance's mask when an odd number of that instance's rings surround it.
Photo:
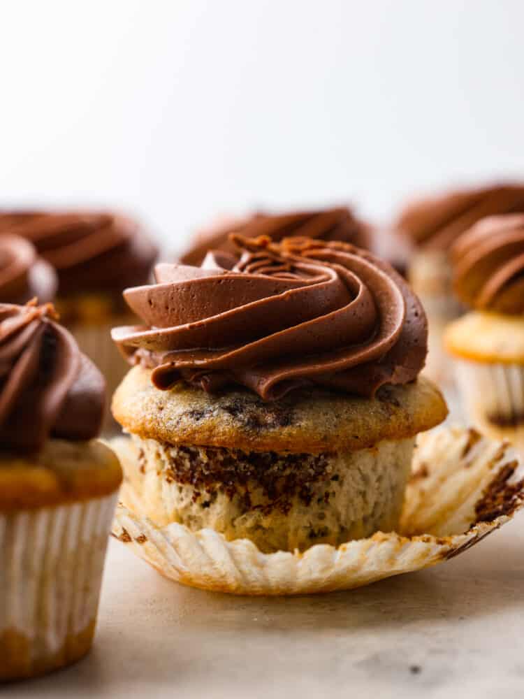
<path fill-rule="evenodd" d="M 116 499 L 0 513 L 0 680 L 91 647 Z"/>

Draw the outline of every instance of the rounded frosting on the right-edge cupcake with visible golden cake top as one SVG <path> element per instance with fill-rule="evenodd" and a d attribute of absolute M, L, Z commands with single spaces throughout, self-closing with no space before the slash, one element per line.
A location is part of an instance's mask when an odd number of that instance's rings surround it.
<path fill-rule="evenodd" d="M 451 248 L 453 287 L 474 308 L 524 314 L 524 215 L 490 216 Z"/>

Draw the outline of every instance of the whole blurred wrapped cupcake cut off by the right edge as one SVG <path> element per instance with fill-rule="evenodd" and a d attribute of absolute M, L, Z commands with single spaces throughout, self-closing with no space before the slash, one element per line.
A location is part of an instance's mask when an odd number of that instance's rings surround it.
<path fill-rule="evenodd" d="M 483 219 L 451 257 L 454 290 L 473 309 L 445 335 L 467 414 L 524 448 L 524 215 Z"/>

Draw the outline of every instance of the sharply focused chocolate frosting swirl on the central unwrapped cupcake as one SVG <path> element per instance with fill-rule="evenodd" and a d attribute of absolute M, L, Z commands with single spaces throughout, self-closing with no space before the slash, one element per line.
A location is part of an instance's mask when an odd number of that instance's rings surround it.
<path fill-rule="evenodd" d="M 264 400 L 303 386 L 374 396 L 416 379 L 427 352 L 419 299 L 387 263 L 347 243 L 235 238 L 240 260 L 161 264 L 127 289 L 144 326 L 114 329 L 130 363 L 169 389 L 241 384 Z"/>

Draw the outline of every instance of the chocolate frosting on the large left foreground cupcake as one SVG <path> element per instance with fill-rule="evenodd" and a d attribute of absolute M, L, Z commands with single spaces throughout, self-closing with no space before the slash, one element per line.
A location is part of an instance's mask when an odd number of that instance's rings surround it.
<path fill-rule="evenodd" d="M 0 303 L 0 449 L 35 452 L 50 437 L 99 434 L 105 382 L 51 304 Z"/>

